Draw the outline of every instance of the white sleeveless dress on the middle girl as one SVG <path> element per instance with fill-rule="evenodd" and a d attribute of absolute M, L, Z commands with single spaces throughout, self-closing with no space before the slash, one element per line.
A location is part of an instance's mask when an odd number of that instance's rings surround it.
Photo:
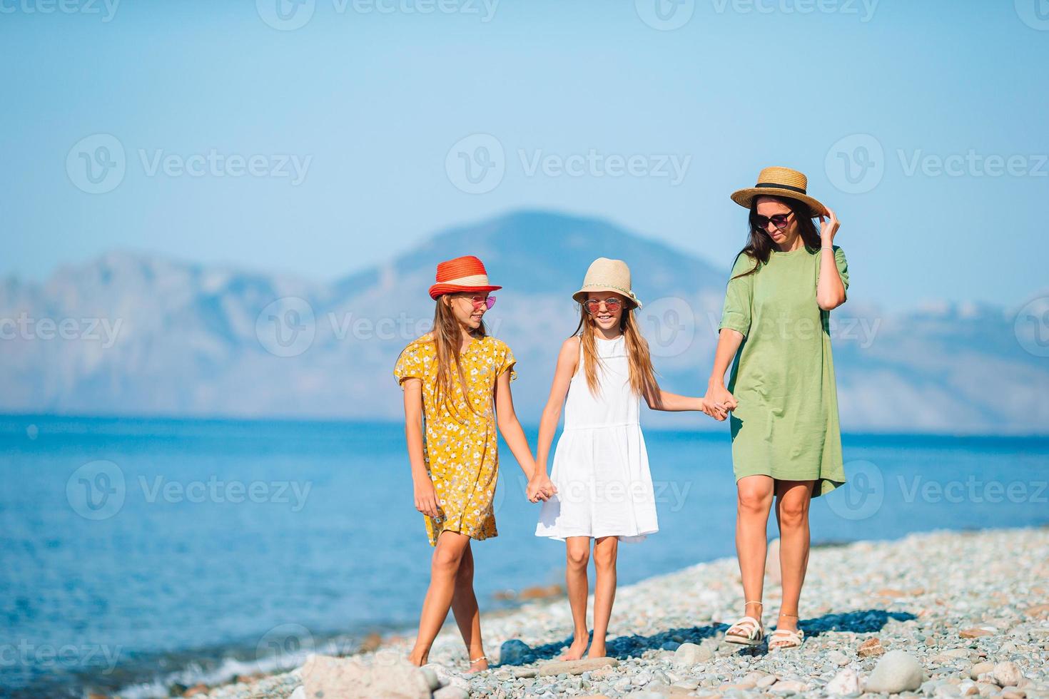
<path fill-rule="evenodd" d="M 636 542 L 659 530 L 648 453 L 630 391 L 623 336 L 596 340 L 600 390 L 586 385 L 582 350 L 564 401 L 564 430 L 554 452 L 557 494 L 542 503 L 537 537 L 618 537 Z"/>

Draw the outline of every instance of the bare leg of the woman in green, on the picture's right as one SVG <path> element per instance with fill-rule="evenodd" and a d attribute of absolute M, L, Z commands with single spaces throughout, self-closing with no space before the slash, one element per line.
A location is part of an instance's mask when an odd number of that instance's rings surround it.
<path fill-rule="evenodd" d="M 776 522 L 779 523 L 779 568 L 784 598 L 777 629 L 797 629 L 801 585 L 809 566 L 809 504 L 815 481 L 776 481 Z"/>

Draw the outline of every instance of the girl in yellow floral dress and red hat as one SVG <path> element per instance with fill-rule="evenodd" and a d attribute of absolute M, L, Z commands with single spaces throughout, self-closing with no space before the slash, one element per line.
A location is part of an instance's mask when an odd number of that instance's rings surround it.
<path fill-rule="evenodd" d="M 499 467 L 496 427 L 529 478 L 529 500 L 545 501 L 555 492 L 545 469 L 536 473 L 514 414 L 513 352 L 485 330 L 485 312 L 495 302 L 488 292 L 499 288 L 488 283 L 485 265 L 473 256 L 438 264 L 430 287 L 436 302 L 433 331 L 404 348 L 393 369 L 404 389 L 415 509 L 425 516 L 434 547 L 430 587 L 409 655 L 416 665 L 427 662 L 450 608 L 467 646 L 470 672 L 488 668 L 470 540 L 497 534 L 492 508 Z"/>

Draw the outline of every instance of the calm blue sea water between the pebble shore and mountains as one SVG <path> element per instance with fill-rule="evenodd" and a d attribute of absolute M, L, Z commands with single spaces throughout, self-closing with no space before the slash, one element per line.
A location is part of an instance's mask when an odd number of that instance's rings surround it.
<path fill-rule="evenodd" d="M 727 434 L 646 440 L 661 531 L 621 547 L 624 584 L 734 550 Z M 1049 523 L 1049 439 L 844 442 L 816 541 Z M 401 425 L 5 416 L 0 445 L 0 695 L 150 696 L 416 620 L 431 549 Z M 474 547 L 490 609 L 563 570 L 502 454 L 499 537 Z"/>

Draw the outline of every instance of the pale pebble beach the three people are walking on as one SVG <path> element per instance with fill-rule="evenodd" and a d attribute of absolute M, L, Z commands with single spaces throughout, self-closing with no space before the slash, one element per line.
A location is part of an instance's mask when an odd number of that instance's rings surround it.
<path fill-rule="evenodd" d="M 778 567 L 769 568 L 767 624 L 780 595 Z M 464 673 L 449 615 L 422 670 L 403 660 L 411 639 L 394 637 L 369 653 L 312 656 L 288 673 L 187 696 L 1049 699 L 1049 528 L 815 548 L 801 598 L 807 637 L 796 650 L 725 643 L 740 595 L 736 562 L 723 559 L 620 587 L 607 658 L 557 660 L 572 630 L 558 597 L 484 616 L 492 667 L 475 675 Z"/>

